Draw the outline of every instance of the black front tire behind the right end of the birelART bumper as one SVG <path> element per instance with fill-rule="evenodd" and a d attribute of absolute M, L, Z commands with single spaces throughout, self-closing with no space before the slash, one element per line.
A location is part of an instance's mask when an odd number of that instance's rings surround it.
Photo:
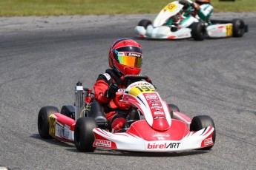
<path fill-rule="evenodd" d="M 206 128 L 207 126 L 214 127 L 214 132 L 212 134 L 212 141 L 215 143 L 216 129 L 215 129 L 214 121 L 208 115 L 195 116 L 191 120 L 190 131 L 191 132 L 199 131 L 200 129 Z M 209 150 L 211 148 L 212 146 L 208 146 L 200 150 Z"/>

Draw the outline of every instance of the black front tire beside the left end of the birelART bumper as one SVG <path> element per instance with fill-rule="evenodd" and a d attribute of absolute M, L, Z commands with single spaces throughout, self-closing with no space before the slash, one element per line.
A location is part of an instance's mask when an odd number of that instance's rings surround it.
<path fill-rule="evenodd" d="M 96 127 L 96 121 L 91 117 L 82 117 L 76 121 L 74 142 L 79 152 L 93 152 L 96 149 L 93 147 L 93 129 Z"/>

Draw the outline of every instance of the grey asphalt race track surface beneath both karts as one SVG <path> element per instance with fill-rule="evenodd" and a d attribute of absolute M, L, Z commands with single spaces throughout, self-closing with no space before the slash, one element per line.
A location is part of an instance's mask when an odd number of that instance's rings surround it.
<path fill-rule="evenodd" d="M 242 38 L 147 41 L 134 37 L 142 18 L 59 16 L 0 18 L 0 167 L 9 169 L 255 169 L 256 13 L 217 13 L 243 18 Z M 92 87 L 108 68 L 116 38 L 142 44 L 142 74 L 165 101 L 189 117 L 210 115 L 217 140 L 209 152 L 137 153 L 42 140 L 42 106 L 72 104 L 77 81 Z M 1 169 L 1 168 L 0 168 Z"/>

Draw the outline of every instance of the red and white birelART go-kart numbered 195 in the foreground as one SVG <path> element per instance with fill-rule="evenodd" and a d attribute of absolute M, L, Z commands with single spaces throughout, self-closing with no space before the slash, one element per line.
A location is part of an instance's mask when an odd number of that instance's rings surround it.
<path fill-rule="evenodd" d="M 144 81 L 141 81 L 144 80 Z M 188 118 L 168 104 L 145 75 L 125 75 L 116 84 L 130 84 L 116 92 L 114 103 L 128 112 L 119 131 L 111 131 L 91 89 L 76 84 L 75 106 L 42 107 L 38 115 L 39 135 L 74 142 L 80 152 L 96 147 L 133 152 L 182 152 L 211 149 L 216 130 L 207 115 Z"/>

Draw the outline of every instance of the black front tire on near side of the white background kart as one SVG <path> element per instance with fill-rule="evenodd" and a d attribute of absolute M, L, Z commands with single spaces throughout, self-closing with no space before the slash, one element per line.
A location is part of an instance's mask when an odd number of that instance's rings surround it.
<path fill-rule="evenodd" d="M 206 38 L 206 28 L 202 22 L 195 22 L 191 27 L 191 37 L 196 41 L 203 41 Z"/>

